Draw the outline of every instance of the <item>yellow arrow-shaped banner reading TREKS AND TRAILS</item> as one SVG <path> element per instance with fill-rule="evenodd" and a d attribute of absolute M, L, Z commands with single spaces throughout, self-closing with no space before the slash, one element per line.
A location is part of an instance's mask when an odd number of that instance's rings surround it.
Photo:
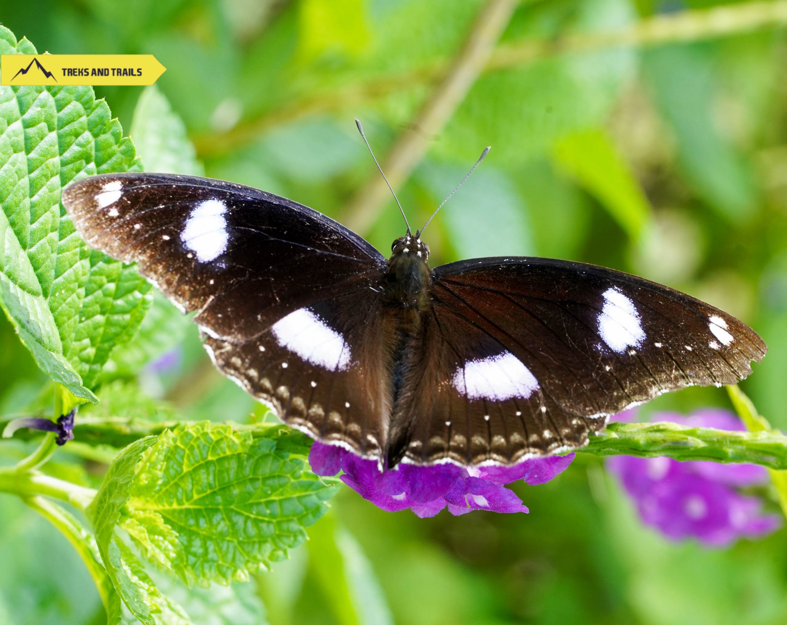
<path fill-rule="evenodd" d="M 152 85 L 167 68 L 153 54 L 2 54 L 0 85 Z"/>

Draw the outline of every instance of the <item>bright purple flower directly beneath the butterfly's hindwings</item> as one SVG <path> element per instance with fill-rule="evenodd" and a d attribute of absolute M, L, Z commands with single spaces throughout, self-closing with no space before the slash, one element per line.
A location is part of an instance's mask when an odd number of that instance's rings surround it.
<path fill-rule="evenodd" d="M 341 447 L 315 442 L 309 464 L 317 475 L 336 475 L 342 482 L 387 512 L 412 509 L 421 518 L 446 506 L 455 516 L 471 510 L 527 512 L 527 507 L 504 484 L 523 479 L 528 484 L 549 482 L 563 472 L 574 454 L 524 460 L 512 467 L 458 467 L 397 464 L 381 472 L 375 460 L 364 460 Z"/>

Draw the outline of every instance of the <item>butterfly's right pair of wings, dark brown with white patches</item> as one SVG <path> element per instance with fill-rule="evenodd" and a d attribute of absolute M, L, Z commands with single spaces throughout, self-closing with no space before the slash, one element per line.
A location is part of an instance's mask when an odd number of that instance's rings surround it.
<path fill-rule="evenodd" d="M 767 349 L 711 305 L 589 264 L 475 259 L 432 279 L 394 416 L 391 453 L 412 462 L 576 449 L 609 415 L 656 395 L 744 379 Z"/>

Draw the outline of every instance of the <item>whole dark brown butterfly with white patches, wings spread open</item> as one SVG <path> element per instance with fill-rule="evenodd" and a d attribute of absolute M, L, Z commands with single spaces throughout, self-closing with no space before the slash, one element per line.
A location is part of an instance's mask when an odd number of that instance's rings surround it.
<path fill-rule="evenodd" d="M 744 379 L 767 349 L 733 316 L 637 276 L 537 257 L 430 268 L 409 226 L 386 259 L 316 210 L 221 180 L 104 174 L 62 202 L 90 246 L 194 313 L 224 375 L 291 427 L 388 468 L 579 449 L 657 395 Z"/>

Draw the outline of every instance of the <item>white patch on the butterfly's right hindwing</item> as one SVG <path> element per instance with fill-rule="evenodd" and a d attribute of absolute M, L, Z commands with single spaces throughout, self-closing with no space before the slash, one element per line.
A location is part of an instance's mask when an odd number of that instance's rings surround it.
<path fill-rule="evenodd" d="M 494 401 L 527 399 L 538 389 L 538 380 L 530 369 L 508 351 L 467 361 L 464 367 L 456 369 L 452 382 L 468 398 Z"/>

